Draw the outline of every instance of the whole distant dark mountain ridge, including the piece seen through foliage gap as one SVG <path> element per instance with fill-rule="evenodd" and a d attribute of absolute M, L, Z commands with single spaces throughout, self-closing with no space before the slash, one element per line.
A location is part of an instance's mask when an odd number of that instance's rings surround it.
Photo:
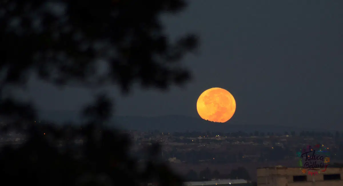
<path fill-rule="evenodd" d="M 79 122 L 81 117 L 76 111 L 41 111 L 40 117 L 44 120 L 62 123 L 67 121 Z M 270 125 L 270 124 L 246 124 L 244 122 L 234 121 L 226 123 L 214 123 L 205 121 L 200 117 L 182 116 L 182 115 L 166 115 L 166 116 L 115 116 L 113 118 L 113 125 L 122 129 L 136 130 L 136 131 L 164 131 L 164 132 L 273 132 L 282 133 L 287 131 L 300 132 L 308 129 Z M 320 128 L 311 128 L 311 131 L 320 131 Z"/>

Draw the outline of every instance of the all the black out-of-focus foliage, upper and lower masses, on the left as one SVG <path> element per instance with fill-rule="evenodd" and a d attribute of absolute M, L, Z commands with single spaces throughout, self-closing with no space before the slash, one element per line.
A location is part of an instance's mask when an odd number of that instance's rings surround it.
<path fill-rule="evenodd" d="M 1 148 L 2 184 L 181 185 L 179 176 L 156 161 L 158 145 L 142 168 L 129 156 L 129 136 L 104 125 L 112 113 L 106 94 L 84 109 L 84 125 L 58 127 L 34 122 L 33 106 L 5 93 L 25 87 L 31 75 L 58 86 L 116 84 L 124 93 L 135 82 L 161 90 L 183 84 L 191 76 L 179 61 L 196 48 L 197 38 L 171 41 L 161 16 L 186 5 L 184 0 L 1 0 L 0 114 L 7 124 L 1 135 L 16 131 L 26 138 Z"/>

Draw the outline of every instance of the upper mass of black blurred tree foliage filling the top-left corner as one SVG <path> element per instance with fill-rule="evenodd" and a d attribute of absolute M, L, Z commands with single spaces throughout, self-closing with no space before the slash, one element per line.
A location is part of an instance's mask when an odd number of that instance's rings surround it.
<path fill-rule="evenodd" d="M 195 49 L 197 39 L 186 35 L 172 43 L 159 16 L 185 5 L 183 0 L 2 1 L 5 82 L 24 83 L 35 70 L 51 83 L 118 83 L 123 91 L 137 80 L 162 89 L 184 83 L 190 74 L 177 62 Z M 106 73 L 96 70 L 99 60 Z"/>

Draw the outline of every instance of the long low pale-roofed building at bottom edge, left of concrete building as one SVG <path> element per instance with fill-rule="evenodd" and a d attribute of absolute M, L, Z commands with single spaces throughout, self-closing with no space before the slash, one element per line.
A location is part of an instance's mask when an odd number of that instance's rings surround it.
<path fill-rule="evenodd" d="M 185 186 L 251 186 L 252 184 L 244 179 L 217 179 L 204 182 L 185 182 Z"/>

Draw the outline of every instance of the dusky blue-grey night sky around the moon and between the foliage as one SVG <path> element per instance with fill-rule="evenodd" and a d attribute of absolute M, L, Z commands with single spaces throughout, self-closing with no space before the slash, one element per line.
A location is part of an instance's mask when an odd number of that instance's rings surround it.
<path fill-rule="evenodd" d="M 182 63 L 193 73 L 185 87 L 140 90 L 127 97 L 107 88 L 117 115 L 197 116 L 202 91 L 221 87 L 237 102 L 235 123 L 311 125 L 342 123 L 343 1 L 193 0 L 163 18 L 175 38 L 200 36 L 197 54 Z M 59 90 L 32 79 L 28 97 L 39 110 L 78 110 L 97 90 Z"/>

